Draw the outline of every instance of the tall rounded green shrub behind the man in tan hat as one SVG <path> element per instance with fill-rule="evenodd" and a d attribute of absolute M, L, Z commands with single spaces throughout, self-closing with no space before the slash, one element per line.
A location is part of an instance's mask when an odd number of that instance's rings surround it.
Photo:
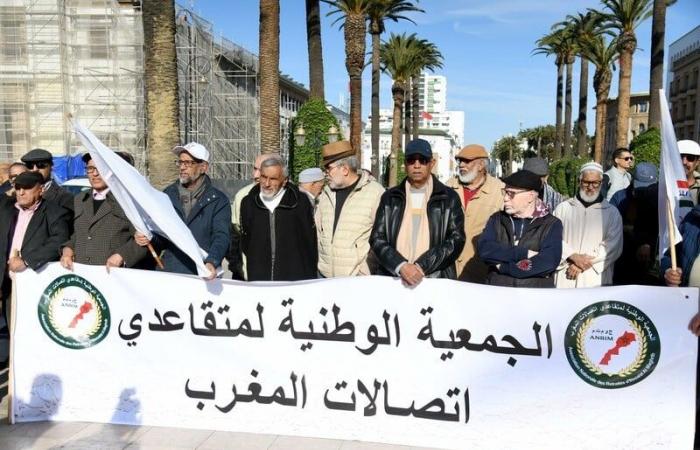
<path fill-rule="evenodd" d="M 306 139 L 304 145 L 297 147 L 294 132 L 300 124 L 304 127 Z M 331 126 L 338 129 L 338 139 L 343 139 L 338 120 L 328 111 L 325 101 L 311 99 L 299 109 L 289 129 L 289 171 L 292 180 L 296 182 L 304 169 L 321 167 L 321 147 L 328 143 L 327 133 Z"/>

